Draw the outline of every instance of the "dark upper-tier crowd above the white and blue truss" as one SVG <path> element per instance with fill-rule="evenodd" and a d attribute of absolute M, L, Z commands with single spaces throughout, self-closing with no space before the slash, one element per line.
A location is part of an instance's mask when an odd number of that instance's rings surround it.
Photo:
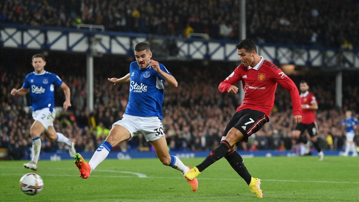
<path fill-rule="evenodd" d="M 355 0 L 246 1 L 247 37 L 351 49 L 359 46 L 358 10 Z M 11 0 L 0 2 L 0 12 L 0 22 L 32 26 L 85 23 L 121 32 L 239 38 L 239 1 L 234 0 Z"/>

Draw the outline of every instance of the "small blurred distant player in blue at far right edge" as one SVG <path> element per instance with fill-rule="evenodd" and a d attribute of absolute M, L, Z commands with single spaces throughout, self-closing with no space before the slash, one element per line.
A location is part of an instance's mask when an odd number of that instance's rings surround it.
<path fill-rule="evenodd" d="M 359 125 L 358 119 L 351 116 L 351 111 L 346 111 L 345 119 L 341 122 L 340 125 L 342 127 L 345 127 L 346 129 L 345 152 L 343 153 L 343 156 L 348 156 L 350 150 L 353 152 L 353 157 L 358 156 L 358 152 L 356 151 L 356 145 L 354 143 L 354 130 Z"/>

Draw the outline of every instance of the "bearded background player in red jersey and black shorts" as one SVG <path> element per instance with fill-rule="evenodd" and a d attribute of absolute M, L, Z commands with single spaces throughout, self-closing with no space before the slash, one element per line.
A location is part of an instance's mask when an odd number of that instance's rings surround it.
<path fill-rule="evenodd" d="M 307 138 L 305 136 L 305 130 L 308 130 L 311 141 L 318 151 L 318 159 L 323 160 L 324 154 L 319 146 L 317 140 L 318 125 L 315 120 L 314 110 L 318 109 L 318 104 L 315 96 L 309 93 L 308 83 L 306 81 L 300 82 L 300 101 L 302 103 L 302 123 L 299 123 L 293 131 L 294 138 L 298 139 L 300 143 L 307 144 Z"/>

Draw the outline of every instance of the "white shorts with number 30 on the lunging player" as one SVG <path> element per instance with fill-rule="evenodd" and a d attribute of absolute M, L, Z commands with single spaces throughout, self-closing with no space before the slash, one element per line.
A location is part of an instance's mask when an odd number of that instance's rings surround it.
<path fill-rule="evenodd" d="M 158 116 L 140 117 L 123 114 L 122 117 L 121 120 L 112 124 L 112 127 L 115 125 L 125 127 L 131 133 L 131 138 L 143 134 L 145 140 L 148 142 L 155 141 L 164 136 L 163 125 Z"/>

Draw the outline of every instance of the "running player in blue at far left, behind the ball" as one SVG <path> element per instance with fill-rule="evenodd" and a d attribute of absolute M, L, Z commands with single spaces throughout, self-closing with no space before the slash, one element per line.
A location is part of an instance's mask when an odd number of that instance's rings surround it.
<path fill-rule="evenodd" d="M 30 109 L 32 110 L 32 118 L 35 121 L 30 128 L 32 159 L 27 164 L 24 164 L 24 167 L 37 170 L 37 161 L 41 150 L 41 133 L 44 133 L 50 141 L 65 143 L 69 147 L 70 156 L 74 156 L 76 151 L 74 140 L 69 140 L 62 133 L 56 133 L 52 123 L 56 115 L 53 98 L 54 85 L 60 86 L 64 90 L 66 96 L 64 110 L 71 106 L 70 88 L 56 74 L 45 71 L 46 61 L 42 54 L 32 56 L 31 65 L 34 72 L 26 75 L 23 86 L 20 89 L 13 88 L 11 95 L 24 96 L 30 90 Z"/>

